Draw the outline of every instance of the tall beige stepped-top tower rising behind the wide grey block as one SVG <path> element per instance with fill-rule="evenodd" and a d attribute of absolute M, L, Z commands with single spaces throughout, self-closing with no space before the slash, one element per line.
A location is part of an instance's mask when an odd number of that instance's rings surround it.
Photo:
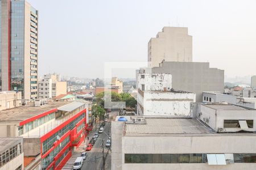
<path fill-rule="evenodd" d="M 163 27 L 148 42 L 149 67 L 162 61 L 192 62 L 192 36 L 186 27 Z"/>

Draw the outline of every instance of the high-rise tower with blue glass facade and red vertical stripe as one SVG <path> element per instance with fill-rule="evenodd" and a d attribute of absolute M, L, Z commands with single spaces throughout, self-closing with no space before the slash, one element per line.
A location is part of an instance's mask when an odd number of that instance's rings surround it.
<path fill-rule="evenodd" d="M 26 1 L 0 0 L 0 91 L 38 97 L 38 11 Z"/>

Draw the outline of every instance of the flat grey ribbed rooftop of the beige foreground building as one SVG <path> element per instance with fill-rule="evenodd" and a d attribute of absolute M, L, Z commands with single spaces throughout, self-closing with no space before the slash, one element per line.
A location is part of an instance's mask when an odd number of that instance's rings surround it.
<path fill-rule="evenodd" d="M 146 124 L 126 124 L 126 136 L 214 133 L 195 118 L 145 117 Z"/>

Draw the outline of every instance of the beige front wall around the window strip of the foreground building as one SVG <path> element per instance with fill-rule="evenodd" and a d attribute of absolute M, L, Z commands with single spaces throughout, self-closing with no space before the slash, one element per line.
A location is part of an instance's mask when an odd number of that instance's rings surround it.
<path fill-rule="evenodd" d="M 159 139 L 160 138 L 160 139 Z M 122 169 L 254 169 L 256 163 L 228 165 L 125 164 L 125 154 L 256 153 L 256 135 L 122 137 Z"/>

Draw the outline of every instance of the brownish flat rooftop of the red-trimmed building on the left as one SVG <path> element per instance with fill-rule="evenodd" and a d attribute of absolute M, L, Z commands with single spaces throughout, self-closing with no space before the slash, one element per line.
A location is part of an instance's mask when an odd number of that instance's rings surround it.
<path fill-rule="evenodd" d="M 59 108 L 62 105 L 68 103 L 71 103 L 71 101 L 50 102 L 49 104 L 42 107 L 22 106 L 18 108 L 8 109 L 0 112 L 0 122 L 20 122 L 23 120 L 27 120 L 28 118 L 34 117 L 38 114 L 50 111 L 51 109 Z"/>

